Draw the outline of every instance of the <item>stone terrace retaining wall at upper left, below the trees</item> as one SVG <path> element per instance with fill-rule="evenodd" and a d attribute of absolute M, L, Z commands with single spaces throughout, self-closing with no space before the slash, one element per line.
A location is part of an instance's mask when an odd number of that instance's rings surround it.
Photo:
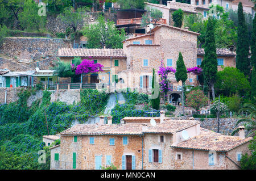
<path fill-rule="evenodd" d="M 67 39 L 35 37 L 6 37 L 0 53 L 6 56 L 0 60 L 0 69 L 11 71 L 49 69 L 57 58 L 59 48 L 71 48 Z"/>

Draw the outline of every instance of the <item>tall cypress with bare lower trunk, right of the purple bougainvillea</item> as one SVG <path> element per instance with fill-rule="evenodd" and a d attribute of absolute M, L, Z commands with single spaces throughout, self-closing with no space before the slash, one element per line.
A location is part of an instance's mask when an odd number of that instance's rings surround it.
<path fill-rule="evenodd" d="M 213 18 L 210 17 L 207 23 L 207 32 L 205 36 L 205 48 L 204 48 L 204 64 L 203 64 L 203 74 L 204 79 L 209 86 L 209 90 L 212 90 L 212 98 L 215 99 L 214 93 L 214 83 L 216 82 L 216 74 L 218 71 L 217 65 L 217 54 L 216 54 L 216 44 L 214 37 L 214 27 Z"/>

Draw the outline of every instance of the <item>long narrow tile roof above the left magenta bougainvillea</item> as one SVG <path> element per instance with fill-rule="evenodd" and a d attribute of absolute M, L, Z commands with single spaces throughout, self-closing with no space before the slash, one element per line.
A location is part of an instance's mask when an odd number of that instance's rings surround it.
<path fill-rule="evenodd" d="M 123 49 L 60 48 L 59 57 L 126 57 Z"/>

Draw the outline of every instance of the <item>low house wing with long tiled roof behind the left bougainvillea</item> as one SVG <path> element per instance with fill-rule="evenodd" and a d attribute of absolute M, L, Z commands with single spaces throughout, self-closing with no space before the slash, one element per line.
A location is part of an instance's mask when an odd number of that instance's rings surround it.
<path fill-rule="evenodd" d="M 123 49 L 59 49 L 61 61 L 72 63 L 73 58 L 93 60 L 94 63 L 104 65 L 104 72 L 85 75 L 82 83 L 113 83 L 118 81 L 117 73 L 126 70 L 126 54 Z"/>

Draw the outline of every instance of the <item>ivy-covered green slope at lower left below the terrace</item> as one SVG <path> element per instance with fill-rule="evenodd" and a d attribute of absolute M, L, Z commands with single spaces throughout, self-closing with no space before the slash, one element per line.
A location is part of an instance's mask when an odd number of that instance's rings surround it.
<path fill-rule="evenodd" d="M 44 146 L 42 136 L 60 133 L 75 120 L 84 123 L 89 116 L 102 114 L 109 98 L 108 94 L 85 89 L 80 103 L 51 103 L 51 92 L 46 90 L 42 100 L 28 107 L 27 99 L 35 92 L 22 90 L 16 102 L 0 104 L 0 169 L 49 169 L 49 147 Z M 43 149 L 46 164 L 39 164 L 38 151 Z"/>

